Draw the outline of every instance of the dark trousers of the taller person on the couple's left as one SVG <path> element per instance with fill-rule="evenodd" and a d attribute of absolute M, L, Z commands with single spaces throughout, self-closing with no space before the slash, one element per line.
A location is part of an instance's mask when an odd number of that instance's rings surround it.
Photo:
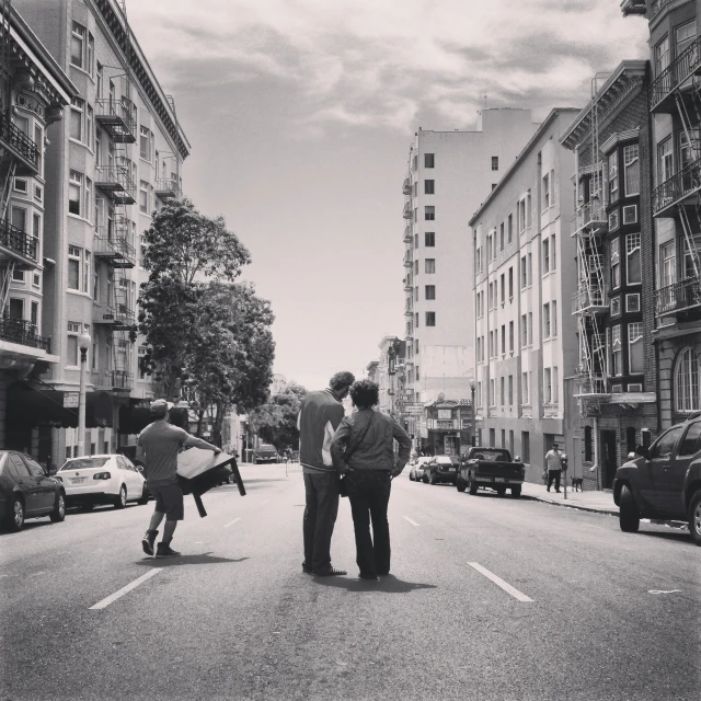
<path fill-rule="evenodd" d="M 338 473 L 304 473 L 304 566 L 314 572 L 331 568 L 331 537 L 338 515 Z"/>

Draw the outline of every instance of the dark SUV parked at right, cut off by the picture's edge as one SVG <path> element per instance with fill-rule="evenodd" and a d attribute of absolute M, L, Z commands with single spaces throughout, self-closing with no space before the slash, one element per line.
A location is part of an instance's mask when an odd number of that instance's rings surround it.
<path fill-rule="evenodd" d="M 621 530 L 635 532 L 641 518 L 682 520 L 701 545 L 701 415 L 673 426 L 639 457 L 616 471 L 613 501 Z"/>

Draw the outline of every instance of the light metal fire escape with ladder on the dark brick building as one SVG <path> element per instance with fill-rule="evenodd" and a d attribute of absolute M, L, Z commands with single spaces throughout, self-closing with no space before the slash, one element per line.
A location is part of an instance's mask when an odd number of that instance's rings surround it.
<path fill-rule="evenodd" d="M 607 169 L 599 151 L 599 104 L 597 78 L 591 81 L 589 165 L 576 174 L 578 207 L 572 235 L 577 245 L 577 291 L 572 313 L 579 337 L 578 397 L 607 393 L 606 335 L 601 315 L 608 312 L 601 237 L 607 229 Z M 579 158 L 582 154 L 579 154 Z"/>

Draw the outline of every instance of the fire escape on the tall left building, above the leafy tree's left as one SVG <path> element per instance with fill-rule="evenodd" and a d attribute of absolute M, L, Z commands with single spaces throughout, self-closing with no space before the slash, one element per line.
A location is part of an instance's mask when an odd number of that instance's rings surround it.
<path fill-rule="evenodd" d="M 131 145 L 137 139 L 137 119 L 131 99 L 131 33 L 124 0 L 119 1 L 119 8 L 126 34 L 126 72 L 108 79 L 107 94 L 97 95 L 95 110 L 95 119 L 108 136 L 110 143 L 106 163 L 97 163 L 95 168 L 95 185 L 105 195 L 106 208 L 97 215 L 94 255 L 106 265 L 108 273 L 107 298 L 96 312 L 94 323 L 107 327 L 112 334 L 106 387 L 128 392 L 134 387 L 129 331 L 136 323 L 136 283 L 126 271 L 136 266 L 136 226 L 129 208 L 136 204 L 136 164 Z"/>

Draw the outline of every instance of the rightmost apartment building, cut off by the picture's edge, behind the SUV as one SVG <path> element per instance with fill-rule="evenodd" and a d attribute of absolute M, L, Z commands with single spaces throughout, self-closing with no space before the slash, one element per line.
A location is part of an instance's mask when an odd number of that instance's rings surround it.
<path fill-rule="evenodd" d="M 659 428 L 701 410 L 701 39 L 693 0 L 623 2 L 647 20 L 652 78 L 652 338 Z"/>

